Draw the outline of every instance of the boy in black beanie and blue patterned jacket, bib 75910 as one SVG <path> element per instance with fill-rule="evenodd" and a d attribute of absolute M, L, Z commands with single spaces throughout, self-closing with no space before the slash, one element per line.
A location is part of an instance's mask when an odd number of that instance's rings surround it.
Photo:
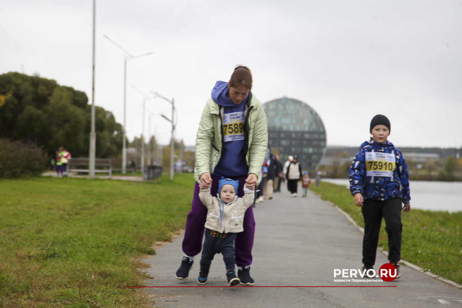
<path fill-rule="evenodd" d="M 350 167 L 350 190 L 364 217 L 363 271 L 375 264 L 383 217 L 388 234 L 388 260 L 396 267 L 396 278 L 400 278 L 401 209 L 405 213 L 411 211 L 407 164 L 401 151 L 387 141 L 390 121 L 386 116 L 376 115 L 370 132 L 371 140 L 359 147 Z"/>

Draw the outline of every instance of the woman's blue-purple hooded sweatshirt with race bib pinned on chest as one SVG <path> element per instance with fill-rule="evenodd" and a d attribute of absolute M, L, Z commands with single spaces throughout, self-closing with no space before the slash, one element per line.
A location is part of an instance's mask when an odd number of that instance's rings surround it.
<path fill-rule="evenodd" d="M 217 81 L 212 90 L 213 101 L 220 106 L 220 109 L 223 108 L 221 119 L 223 149 L 213 175 L 225 177 L 247 175 L 249 167 L 245 161 L 243 147 L 244 111 L 249 96 L 236 105 L 226 96 L 228 92 L 228 83 L 225 81 Z"/>

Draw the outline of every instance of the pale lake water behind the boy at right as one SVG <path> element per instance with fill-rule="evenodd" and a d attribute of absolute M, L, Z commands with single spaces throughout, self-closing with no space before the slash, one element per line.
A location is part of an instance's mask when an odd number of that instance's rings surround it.
<path fill-rule="evenodd" d="M 322 179 L 322 181 L 349 187 L 348 179 Z M 410 181 L 409 187 L 411 209 L 462 211 L 462 182 Z"/>

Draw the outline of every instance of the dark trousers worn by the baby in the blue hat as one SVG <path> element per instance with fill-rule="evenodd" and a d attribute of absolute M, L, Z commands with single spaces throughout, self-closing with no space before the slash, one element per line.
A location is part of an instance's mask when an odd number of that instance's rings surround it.
<path fill-rule="evenodd" d="M 236 254 L 234 253 L 234 239 L 237 233 L 219 233 L 205 229 L 204 247 L 202 248 L 201 272 L 208 273 L 215 254 L 221 253 L 225 261 L 226 270 L 234 269 Z"/>

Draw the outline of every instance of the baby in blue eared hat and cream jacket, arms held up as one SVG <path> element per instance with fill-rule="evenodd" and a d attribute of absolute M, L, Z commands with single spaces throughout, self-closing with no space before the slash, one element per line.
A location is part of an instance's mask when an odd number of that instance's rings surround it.
<path fill-rule="evenodd" d="M 228 286 L 240 283 L 236 277 L 234 263 L 234 239 L 242 232 L 244 213 L 254 202 L 254 191 L 244 185 L 244 197 L 238 198 L 239 181 L 221 178 L 218 182 L 217 197 L 212 197 L 210 188 L 201 189 L 199 198 L 207 206 L 207 221 L 205 223 L 205 240 L 202 248 L 201 272 L 197 282 L 207 283 L 208 271 L 215 254 L 221 253 L 226 266 Z M 249 284 L 252 285 L 252 284 Z"/>

